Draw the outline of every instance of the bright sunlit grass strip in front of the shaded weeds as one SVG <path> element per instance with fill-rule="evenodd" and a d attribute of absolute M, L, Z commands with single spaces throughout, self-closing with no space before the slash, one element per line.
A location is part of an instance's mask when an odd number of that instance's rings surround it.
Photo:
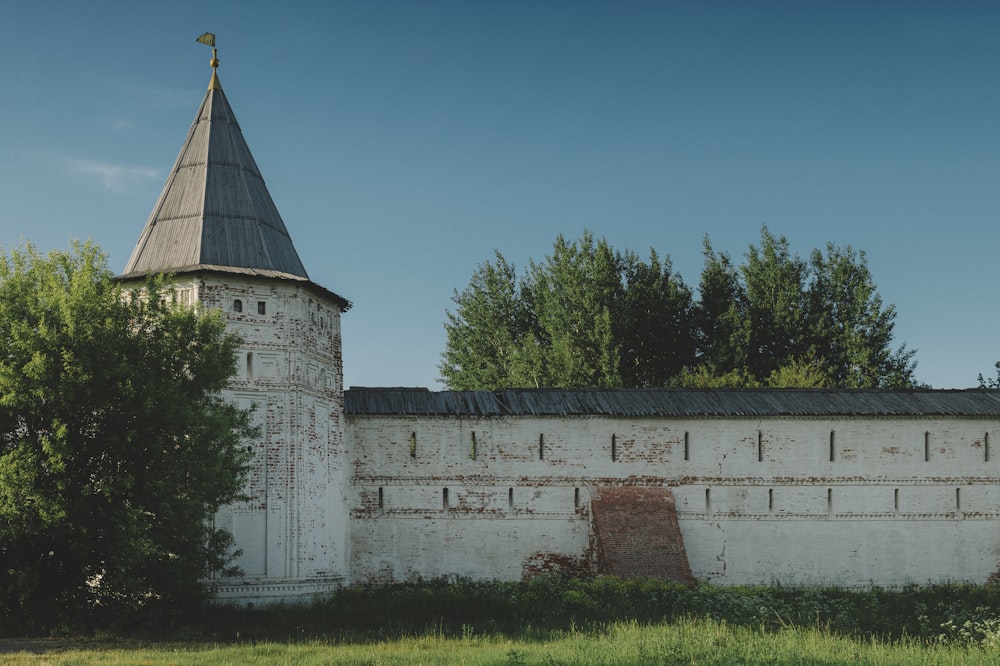
<path fill-rule="evenodd" d="M 778 631 L 714 620 L 643 625 L 615 622 L 590 631 L 564 631 L 544 639 L 467 632 L 387 641 L 265 642 L 213 645 L 65 649 L 43 655 L 4 655 L 10 664 L 1000 664 L 1000 652 L 955 645 L 925 645 L 836 636 L 813 628 Z"/>

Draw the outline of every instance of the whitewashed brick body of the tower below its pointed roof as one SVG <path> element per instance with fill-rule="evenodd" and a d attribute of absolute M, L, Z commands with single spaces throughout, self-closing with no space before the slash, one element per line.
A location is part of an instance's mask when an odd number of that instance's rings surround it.
<path fill-rule="evenodd" d="M 340 310 L 303 285 L 213 276 L 192 283 L 243 343 L 226 397 L 255 408 L 261 437 L 248 500 L 224 507 L 244 576 L 220 596 L 291 599 L 335 589 L 347 574 Z"/>

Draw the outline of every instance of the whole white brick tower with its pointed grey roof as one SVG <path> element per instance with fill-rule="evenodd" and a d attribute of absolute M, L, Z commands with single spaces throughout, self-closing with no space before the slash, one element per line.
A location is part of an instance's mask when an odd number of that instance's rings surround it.
<path fill-rule="evenodd" d="M 180 154 L 119 279 L 169 274 L 181 303 L 220 310 L 243 344 L 228 399 L 253 406 L 247 500 L 216 516 L 242 551 L 224 600 L 324 594 L 347 578 L 340 315 L 350 302 L 312 282 L 212 77 Z"/>

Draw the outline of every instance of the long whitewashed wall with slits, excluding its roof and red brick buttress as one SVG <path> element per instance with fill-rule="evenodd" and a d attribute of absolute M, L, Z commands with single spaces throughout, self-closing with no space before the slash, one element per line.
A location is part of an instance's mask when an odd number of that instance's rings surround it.
<path fill-rule="evenodd" d="M 1000 562 L 997 425 L 352 415 L 351 577 L 593 571 L 598 493 L 668 488 L 699 580 L 982 583 Z"/>

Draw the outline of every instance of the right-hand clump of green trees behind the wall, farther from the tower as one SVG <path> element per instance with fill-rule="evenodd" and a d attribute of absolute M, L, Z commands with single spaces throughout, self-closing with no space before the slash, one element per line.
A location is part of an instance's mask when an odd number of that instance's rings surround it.
<path fill-rule="evenodd" d="M 761 230 L 739 267 L 705 241 L 696 306 L 699 359 L 684 385 L 900 388 L 914 352 L 893 350 L 885 305 L 863 252 L 828 244 L 808 262 Z"/>

